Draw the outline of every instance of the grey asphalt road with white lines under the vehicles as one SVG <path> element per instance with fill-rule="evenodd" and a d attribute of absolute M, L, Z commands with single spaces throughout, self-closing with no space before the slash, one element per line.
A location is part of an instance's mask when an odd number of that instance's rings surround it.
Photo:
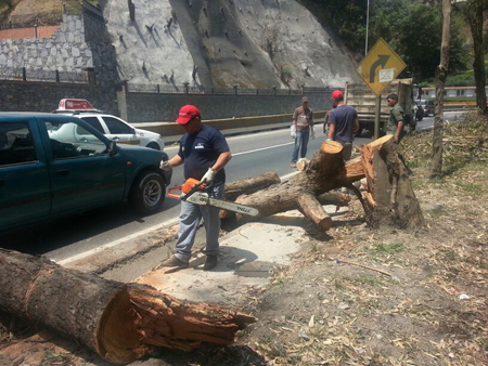
<path fill-rule="evenodd" d="M 447 120 L 459 120 L 461 113 L 446 113 Z M 433 125 L 433 118 L 424 118 L 419 129 Z M 307 157 L 319 149 L 324 140 L 321 127 L 316 128 L 317 139 L 311 140 Z M 368 133 L 368 132 L 367 132 Z M 356 139 L 356 144 L 371 141 L 363 134 Z M 227 181 L 234 182 L 272 171 L 280 177 L 296 171 L 290 167 L 293 141 L 288 130 L 228 138 L 233 158 L 226 168 Z M 166 147 L 169 156 L 177 152 L 176 146 Z M 183 183 L 182 167 L 178 167 L 172 175 L 174 185 Z M 175 222 L 179 213 L 179 201 L 166 198 L 162 210 L 153 215 L 138 217 L 127 204 L 119 202 L 81 214 L 55 220 L 42 225 L 20 230 L 0 236 L 0 247 L 15 249 L 28 253 L 46 254 L 60 261 L 86 252 L 97 247 L 123 240 L 138 233 L 147 233 L 152 228 L 167 222 Z"/>

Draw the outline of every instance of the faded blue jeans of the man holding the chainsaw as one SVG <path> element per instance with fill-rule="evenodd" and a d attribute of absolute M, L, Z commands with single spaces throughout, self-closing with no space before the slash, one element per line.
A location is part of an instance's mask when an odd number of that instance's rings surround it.
<path fill-rule="evenodd" d="M 210 197 L 223 198 L 223 184 L 210 187 Z M 189 262 L 192 257 L 192 247 L 195 241 L 196 230 L 200 221 L 204 219 L 206 246 L 204 253 L 218 257 L 219 235 L 220 235 L 220 209 L 211 206 L 201 206 L 187 201 L 181 201 L 180 228 L 178 231 L 178 241 L 175 248 L 175 257 L 180 261 Z"/>

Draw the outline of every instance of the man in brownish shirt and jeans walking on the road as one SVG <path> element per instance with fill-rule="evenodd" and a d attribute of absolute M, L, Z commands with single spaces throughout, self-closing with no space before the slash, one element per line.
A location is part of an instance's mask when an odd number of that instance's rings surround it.
<path fill-rule="evenodd" d="M 298 153 L 300 153 L 300 158 L 305 158 L 307 155 L 308 139 L 313 140 L 316 138 L 313 131 L 313 112 L 308 107 L 307 96 L 301 99 L 301 106 L 293 113 L 291 134 L 292 139 L 295 139 L 291 166 L 296 167 Z"/>

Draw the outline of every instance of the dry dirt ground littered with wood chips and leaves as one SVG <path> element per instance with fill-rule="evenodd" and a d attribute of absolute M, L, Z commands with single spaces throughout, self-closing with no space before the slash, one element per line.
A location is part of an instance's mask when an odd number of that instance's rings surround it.
<path fill-rule="evenodd" d="M 447 127 L 439 180 L 428 178 L 432 132 L 402 146 L 425 227 L 370 230 L 354 201 L 347 220 L 308 232 L 294 264 L 248 299 L 259 321 L 236 345 L 134 364 L 488 365 L 488 123 Z M 27 340 L 42 365 L 105 365 L 79 344 L 28 336 L 0 327 L 0 364 L 26 364 L 12 343 Z M 40 348 L 46 340 L 56 348 Z"/>

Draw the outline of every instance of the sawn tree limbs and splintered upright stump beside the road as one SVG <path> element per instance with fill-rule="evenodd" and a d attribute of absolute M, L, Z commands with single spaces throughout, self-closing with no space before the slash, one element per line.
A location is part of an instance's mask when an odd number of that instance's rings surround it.
<path fill-rule="evenodd" d="M 232 196 L 227 196 L 227 199 L 258 209 L 259 217 L 297 209 L 320 231 L 328 231 L 332 227 L 332 219 L 322 205 L 347 205 L 345 195 L 330 192 L 347 187 L 361 200 L 367 222 L 372 226 L 388 223 L 416 227 L 423 224 L 422 211 L 397 146 L 391 135 L 386 135 L 363 146 L 361 157 L 345 164 L 341 143 L 325 141 L 312 160 L 299 161 L 297 166 L 300 172 L 287 182 L 273 183 L 268 180 L 271 175 L 267 173 L 268 179 L 259 175 L 246 180 L 254 183 L 251 191 L 245 181 L 239 181 L 233 183 L 239 189 L 232 189 Z M 368 192 L 363 197 L 352 183 L 364 177 Z M 266 188 L 259 185 L 261 181 L 267 182 Z M 222 218 L 232 215 L 230 212 L 221 214 Z M 237 219 L 243 218 L 237 215 Z"/>

